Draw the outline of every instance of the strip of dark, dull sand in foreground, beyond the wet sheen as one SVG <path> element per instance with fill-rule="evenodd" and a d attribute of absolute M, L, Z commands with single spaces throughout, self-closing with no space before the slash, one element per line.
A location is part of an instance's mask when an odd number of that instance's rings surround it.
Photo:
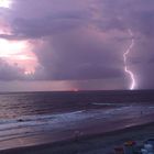
<path fill-rule="evenodd" d="M 1 151 L 0 154 L 110 154 L 124 141 L 154 138 L 154 122 L 57 143 Z"/>

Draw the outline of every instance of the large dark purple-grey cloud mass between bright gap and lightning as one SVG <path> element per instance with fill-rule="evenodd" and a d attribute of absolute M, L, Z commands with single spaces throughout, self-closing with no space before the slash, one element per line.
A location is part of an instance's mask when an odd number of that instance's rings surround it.
<path fill-rule="evenodd" d="M 114 46 L 111 47 L 102 43 L 91 31 L 56 35 L 46 48 L 35 52 L 50 79 L 100 79 L 123 75 L 120 53 L 113 51 L 117 45 L 111 43 Z"/>

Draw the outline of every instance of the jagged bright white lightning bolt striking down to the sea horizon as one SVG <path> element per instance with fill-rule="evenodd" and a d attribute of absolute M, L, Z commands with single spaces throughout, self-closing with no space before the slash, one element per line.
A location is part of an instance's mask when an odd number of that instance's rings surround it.
<path fill-rule="evenodd" d="M 127 62 L 128 62 L 128 55 L 130 54 L 131 50 L 134 46 L 134 38 L 133 38 L 134 35 L 133 35 L 131 29 L 129 29 L 128 32 L 132 38 L 131 38 L 131 44 L 130 44 L 129 48 L 123 54 L 124 72 L 130 76 L 130 79 L 131 79 L 130 90 L 133 90 L 135 88 L 136 82 L 135 82 L 134 74 L 133 74 L 133 72 L 131 72 L 129 69 Z"/>

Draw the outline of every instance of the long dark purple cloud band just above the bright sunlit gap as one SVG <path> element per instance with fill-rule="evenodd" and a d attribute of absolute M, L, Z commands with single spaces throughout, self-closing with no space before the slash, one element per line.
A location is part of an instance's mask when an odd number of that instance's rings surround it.
<path fill-rule="evenodd" d="M 65 16 L 66 15 L 66 16 Z M 63 14 L 62 16 L 47 16 L 38 20 L 16 19 L 13 23 L 13 33 L 25 38 L 40 38 L 72 31 L 81 26 L 82 16 L 77 14 Z"/>

